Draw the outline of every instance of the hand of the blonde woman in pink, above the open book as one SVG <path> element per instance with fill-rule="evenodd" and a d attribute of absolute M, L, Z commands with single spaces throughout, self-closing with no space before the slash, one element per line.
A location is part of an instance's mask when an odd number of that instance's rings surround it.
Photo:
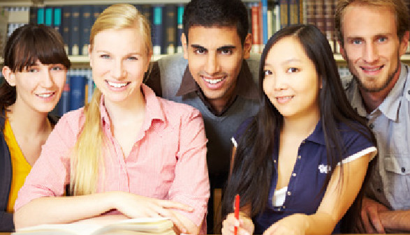
<path fill-rule="evenodd" d="M 179 202 L 170 200 L 154 199 L 142 197 L 128 192 L 115 193 L 115 209 L 128 216 L 129 218 L 139 217 L 166 217 L 173 221 L 175 227 L 186 233 L 187 228 L 184 223 L 177 217 L 173 209 L 192 212 L 193 208 Z"/>

